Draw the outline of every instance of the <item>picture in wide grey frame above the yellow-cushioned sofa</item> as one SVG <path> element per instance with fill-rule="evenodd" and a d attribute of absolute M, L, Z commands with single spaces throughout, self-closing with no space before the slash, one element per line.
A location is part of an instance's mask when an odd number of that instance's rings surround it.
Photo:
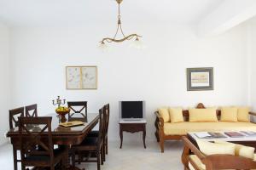
<path fill-rule="evenodd" d="M 213 67 L 187 68 L 187 91 L 213 90 Z"/>

